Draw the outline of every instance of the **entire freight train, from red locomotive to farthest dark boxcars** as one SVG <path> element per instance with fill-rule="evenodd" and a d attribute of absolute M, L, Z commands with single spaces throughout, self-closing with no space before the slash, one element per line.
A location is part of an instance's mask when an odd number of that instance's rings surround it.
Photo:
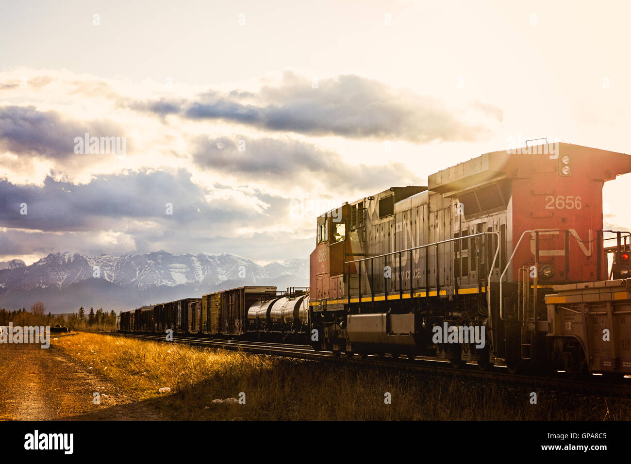
<path fill-rule="evenodd" d="M 630 234 L 603 230 L 602 189 L 628 172 L 630 155 L 567 143 L 485 153 L 317 217 L 307 292 L 226 290 L 122 313 L 121 330 L 615 381 L 631 374 Z"/>

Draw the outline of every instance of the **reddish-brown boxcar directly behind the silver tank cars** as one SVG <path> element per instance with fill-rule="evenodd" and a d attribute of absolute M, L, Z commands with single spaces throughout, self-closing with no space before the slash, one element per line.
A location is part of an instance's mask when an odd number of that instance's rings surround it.
<path fill-rule="evenodd" d="M 276 287 L 247 286 L 224 290 L 219 295 L 219 321 L 222 335 L 244 335 L 247 332 L 247 310 L 256 300 L 276 296 Z M 212 325 L 211 311 L 211 325 Z"/>

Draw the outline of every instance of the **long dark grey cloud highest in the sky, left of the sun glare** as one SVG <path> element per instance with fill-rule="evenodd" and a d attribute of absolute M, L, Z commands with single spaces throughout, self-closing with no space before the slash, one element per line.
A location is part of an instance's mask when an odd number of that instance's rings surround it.
<path fill-rule="evenodd" d="M 456 111 L 436 98 L 410 90 L 394 91 L 376 80 L 346 75 L 321 80 L 317 88 L 313 84 L 305 76 L 285 73 L 279 85 L 264 85 L 256 94 L 210 91 L 187 104 L 144 102 L 132 107 L 160 116 L 174 114 L 179 107 L 190 119 L 221 119 L 271 131 L 353 139 L 428 143 L 473 141 L 488 134 L 483 124 L 461 121 Z M 502 110 L 493 105 L 475 102 L 469 109 L 502 120 Z"/>

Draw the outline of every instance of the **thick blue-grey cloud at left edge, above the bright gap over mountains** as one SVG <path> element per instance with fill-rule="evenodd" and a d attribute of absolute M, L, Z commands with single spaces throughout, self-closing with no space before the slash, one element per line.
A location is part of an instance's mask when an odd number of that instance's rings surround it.
<path fill-rule="evenodd" d="M 155 220 L 165 229 L 187 227 L 201 217 L 217 223 L 247 220 L 254 211 L 230 201 L 209 204 L 208 192 L 191 182 L 191 174 L 165 171 L 99 175 L 89 184 L 61 182 L 47 177 L 44 186 L 14 185 L 0 181 L 0 226 L 47 232 L 120 230 L 130 220 Z M 21 215 L 21 204 L 27 215 Z M 173 205 L 173 215 L 166 205 Z M 199 211 L 198 211 L 199 210 Z"/>

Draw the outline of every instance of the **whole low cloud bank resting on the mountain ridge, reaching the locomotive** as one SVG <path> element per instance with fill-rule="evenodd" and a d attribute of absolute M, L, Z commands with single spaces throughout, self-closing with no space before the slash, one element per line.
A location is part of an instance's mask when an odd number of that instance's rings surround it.
<path fill-rule="evenodd" d="M 292 224 L 289 199 L 255 191 L 254 201 L 236 201 L 223 193 L 193 184 L 184 169 L 102 175 L 78 185 L 50 177 L 43 186 L 0 181 L 0 227 L 7 228 L 0 235 L 0 256 L 121 255 L 161 248 L 230 251 L 251 259 L 308 256 L 312 240 L 302 238 L 304 231 L 294 237 L 284 227 L 268 230 L 276 223 Z M 20 215 L 21 203 L 27 203 L 27 215 Z M 172 203 L 173 215 L 166 214 L 166 203 Z M 237 234 L 241 228 L 253 230 L 256 241 Z M 103 234 L 114 238 L 104 240 Z"/>

